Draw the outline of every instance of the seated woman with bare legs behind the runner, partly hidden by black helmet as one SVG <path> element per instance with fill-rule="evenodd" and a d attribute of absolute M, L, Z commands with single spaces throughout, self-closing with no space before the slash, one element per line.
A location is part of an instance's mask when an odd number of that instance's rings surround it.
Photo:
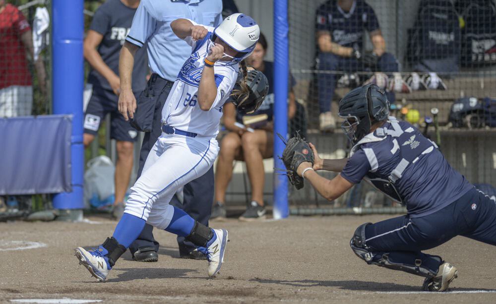
<path fill-rule="evenodd" d="M 259 126 L 243 127 L 243 116 L 237 113 L 232 103 L 224 105 L 224 126 L 229 131 L 221 141 L 219 157 L 217 159 L 215 172 L 215 203 L 212 208 L 211 219 L 226 217 L 225 197 L 226 189 L 233 176 L 233 161 L 245 161 L 248 170 L 248 179 L 251 185 L 251 202 L 240 220 L 256 220 L 265 218 L 265 207 L 263 201 L 263 186 L 265 171 L 263 159 L 271 158 L 273 154 L 273 115 L 274 115 L 274 63 L 265 61 L 267 53 L 267 40 L 260 33 L 258 43 L 247 58 L 247 64 L 261 71 L 269 82 L 269 91 L 260 108 L 249 116 L 266 115 L 266 121 Z M 296 84 L 291 76 L 290 91 L 288 94 L 288 119 L 292 119 L 296 113 L 296 101 L 292 87 Z"/>

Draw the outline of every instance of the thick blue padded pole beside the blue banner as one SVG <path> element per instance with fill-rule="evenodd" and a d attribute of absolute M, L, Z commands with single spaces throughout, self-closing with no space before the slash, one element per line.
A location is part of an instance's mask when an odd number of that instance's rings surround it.
<path fill-rule="evenodd" d="M 54 114 L 72 115 L 72 192 L 54 196 L 56 209 L 82 209 L 83 204 L 83 0 L 52 0 Z"/>

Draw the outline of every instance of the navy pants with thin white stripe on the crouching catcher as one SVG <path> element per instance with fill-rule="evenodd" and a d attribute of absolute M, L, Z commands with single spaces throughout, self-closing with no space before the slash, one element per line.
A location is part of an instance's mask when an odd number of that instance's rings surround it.
<path fill-rule="evenodd" d="M 405 215 L 368 225 L 365 236 L 373 252 L 410 252 L 424 265 L 437 269 L 438 259 L 421 250 L 456 236 L 496 245 L 496 202 L 473 188 L 433 214 L 417 218 Z"/>

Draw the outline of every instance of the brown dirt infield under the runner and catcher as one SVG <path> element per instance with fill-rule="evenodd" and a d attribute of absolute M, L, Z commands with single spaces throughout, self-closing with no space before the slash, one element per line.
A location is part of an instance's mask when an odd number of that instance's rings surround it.
<path fill-rule="evenodd" d="M 450 293 L 420 292 L 422 278 L 369 266 L 348 243 L 355 228 L 387 216 L 292 217 L 283 221 L 213 222 L 231 242 L 216 279 L 206 261 L 179 259 L 175 238 L 156 232 L 157 263 L 126 252 L 106 283 L 78 265 L 76 246 L 94 246 L 116 222 L 0 223 L 0 300 L 89 299 L 122 303 L 495 303 L 495 247 L 457 237 L 430 250 L 459 269 Z M 17 242 L 13 242 L 17 241 Z M 22 242 L 24 243 L 22 243 Z M 37 242 L 37 243 L 25 243 Z M 8 248 L 31 246 L 25 250 Z"/>

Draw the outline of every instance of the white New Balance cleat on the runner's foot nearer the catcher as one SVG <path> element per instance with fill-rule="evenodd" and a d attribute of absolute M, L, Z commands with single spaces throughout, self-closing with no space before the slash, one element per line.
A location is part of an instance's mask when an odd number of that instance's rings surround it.
<path fill-rule="evenodd" d="M 228 232 L 225 229 L 212 229 L 214 237 L 208 241 L 206 248 L 198 247 L 208 260 L 208 276 L 215 277 L 224 262 L 224 253 L 226 253 L 226 245 L 228 240 Z"/>

